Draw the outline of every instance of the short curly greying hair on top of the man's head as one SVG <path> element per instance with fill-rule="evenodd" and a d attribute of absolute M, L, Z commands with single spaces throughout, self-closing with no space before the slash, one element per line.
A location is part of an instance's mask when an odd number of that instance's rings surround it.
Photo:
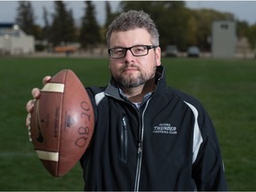
<path fill-rule="evenodd" d="M 113 32 L 127 31 L 133 28 L 145 28 L 151 36 L 152 44 L 159 45 L 159 33 L 155 22 L 143 11 L 123 12 L 112 21 L 107 30 L 107 44 L 110 48 L 110 36 Z"/>

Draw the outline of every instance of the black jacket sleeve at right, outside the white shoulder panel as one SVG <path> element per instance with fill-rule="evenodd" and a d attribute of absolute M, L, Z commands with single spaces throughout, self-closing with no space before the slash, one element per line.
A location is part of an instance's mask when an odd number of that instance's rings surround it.
<path fill-rule="evenodd" d="M 198 121 L 203 142 L 193 164 L 192 177 L 196 181 L 196 188 L 204 191 L 227 191 L 220 144 L 210 116 L 204 111 L 203 115 L 198 116 Z"/>

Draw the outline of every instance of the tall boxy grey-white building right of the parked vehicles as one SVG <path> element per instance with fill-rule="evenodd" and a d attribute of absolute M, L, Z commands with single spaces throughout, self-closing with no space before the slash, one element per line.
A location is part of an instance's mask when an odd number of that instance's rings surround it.
<path fill-rule="evenodd" d="M 236 22 L 220 20 L 212 23 L 212 57 L 233 58 L 236 53 Z"/>

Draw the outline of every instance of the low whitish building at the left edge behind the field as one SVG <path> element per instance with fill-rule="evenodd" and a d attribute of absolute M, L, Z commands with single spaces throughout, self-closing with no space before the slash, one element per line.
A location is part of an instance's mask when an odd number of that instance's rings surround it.
<path fill-rule="evenodd" d="M 28 54 L 35 52 L 35 38 L 24 33 L 18 25 L 0 23 L 0 54 Z"/>

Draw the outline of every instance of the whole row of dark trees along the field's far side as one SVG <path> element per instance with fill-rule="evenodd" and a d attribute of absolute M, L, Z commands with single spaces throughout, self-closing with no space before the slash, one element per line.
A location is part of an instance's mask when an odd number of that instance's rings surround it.
<path fill-rule="evenodd" d="M 249 25 L 247 21 L 236 20 L 230 12 L 218 12 L 212 9 L 191 10 L 184 1 L 120 1 L 119 10 L 112 12 L 110 3 L 104 2 L 106 20 L 100 26 L 96 20 L 95 5 L 92 1 L 84 1 L 84 16 L 81 24 L 76 25 L 73 11 L 68 10 L 65 2 L 54 1 L 54 12 L 43 7 L 44 27 L 36 24 L 36 15 L 30 1 L 18 1 L 16 23 L 28 35 L 36 40 L 46 40 L 52 47 L 60 44 L 79 43 L 84 50 L 92 50 L 99 44 L 105 44 L 105 33 L 108 24 L 120 12 L 131 9 L 148 12 L 160 33 L 160 45 L 176 44 L 180 51 L 189 45 L 197 45 L 202 51 L 211 51 L 212 21 L 236 21 L 236 36 L 247 37 L 251 48 L 256 44 L 256 23 Z"/>

